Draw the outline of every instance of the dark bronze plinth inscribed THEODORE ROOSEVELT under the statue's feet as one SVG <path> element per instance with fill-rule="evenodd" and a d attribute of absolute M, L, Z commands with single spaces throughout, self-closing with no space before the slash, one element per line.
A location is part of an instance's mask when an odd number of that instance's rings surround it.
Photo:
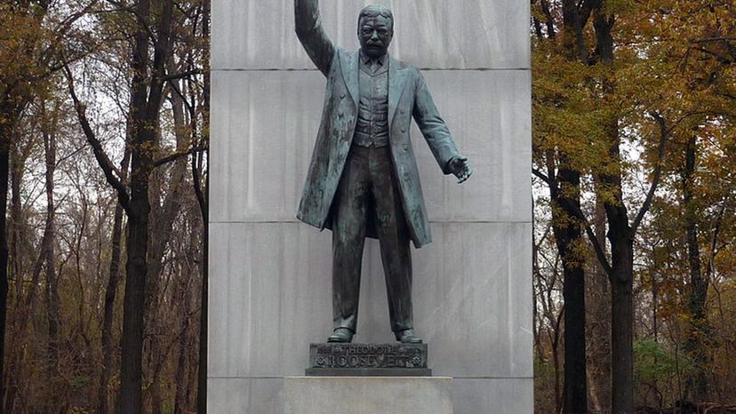
<path fill-rule="evenodd" d="M 427 344 L 310 344 L 307 375 L 429 376 Z"/>

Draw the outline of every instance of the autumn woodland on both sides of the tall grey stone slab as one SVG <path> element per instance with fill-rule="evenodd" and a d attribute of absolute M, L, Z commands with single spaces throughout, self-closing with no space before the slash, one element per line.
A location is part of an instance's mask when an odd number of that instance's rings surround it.
<path fill-rule="evenodd" d="M 736 1 L 531 3 L 536 411 L 736 412 Z M 209 25 L 0 0 L 3 412 L 204 413 Z"/>

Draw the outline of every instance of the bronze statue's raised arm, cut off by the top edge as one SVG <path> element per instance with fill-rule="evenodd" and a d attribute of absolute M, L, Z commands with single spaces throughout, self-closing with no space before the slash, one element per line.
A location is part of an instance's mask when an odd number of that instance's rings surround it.
<path fill-rule="evenodd" d="M 327 76 L 335 54 L 335 45 L 322 28 L 319 0 L 294 0 L 294 21 L 296 34 L 309 59 Z"/>

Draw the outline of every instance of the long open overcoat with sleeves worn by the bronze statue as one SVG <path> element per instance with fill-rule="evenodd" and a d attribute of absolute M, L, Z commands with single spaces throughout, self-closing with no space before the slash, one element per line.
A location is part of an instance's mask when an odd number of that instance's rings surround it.
<path fill-rule="evenodd" d="M 316 20 L 316 21 L 315 21 Z M 297 34 L 327 85 L 322 121 L 301 195 L 297 219 L 320 229 L 332 228 L 332 200 L 356 131 L 358 100 L 358 52 L 334 47 L 319 24 L 302 22 Z M 420 71 L 402 61 L 388 59 L 388 141 L 406 223 L 412 242 L 420 247 L 432 241 L 427 209 L 421 192 L 419 170 L 409 137 L 414 121 L 445 174 L 449 161 L 459 156 L 452 135 L 437 112 Z M 367 232 L 375 236 L 374 232 Z"/>

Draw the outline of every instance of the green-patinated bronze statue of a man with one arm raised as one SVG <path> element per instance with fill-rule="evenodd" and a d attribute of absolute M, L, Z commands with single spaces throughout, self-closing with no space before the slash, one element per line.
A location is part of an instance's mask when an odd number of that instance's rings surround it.
<path fill-rule="evenodd" d="M 417 68 L 388 56 L 393 14 L 369 5 L 358 16 L 360 50 L 348 52 L 324 33 L 318 0 L 294 0 L 296 33 L 326 76 L 322 122 L 297 218 L 332 228 L 332 310 L 329 342 L 356 333 L 364 238 L 378 237 L 388 314 L 396 340 L 420 343 L 413 332 L 414 246 L 431 242 L 409 127 L 412 116 L 445 174 L 463 182 L 468 159 L 437 113 Z"/>

